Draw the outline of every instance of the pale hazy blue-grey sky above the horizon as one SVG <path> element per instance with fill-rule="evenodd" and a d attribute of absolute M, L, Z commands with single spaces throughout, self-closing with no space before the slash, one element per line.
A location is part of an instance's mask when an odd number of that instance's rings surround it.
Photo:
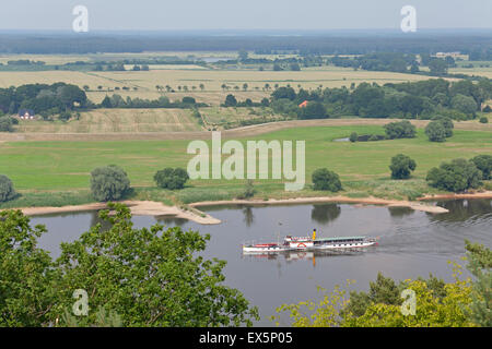
<path fill-rule="evenodd" d="M 71 31 L 78 5 L 90 31 L 492 28 L 492 0 L 3 0 L 0 29 Z"/>

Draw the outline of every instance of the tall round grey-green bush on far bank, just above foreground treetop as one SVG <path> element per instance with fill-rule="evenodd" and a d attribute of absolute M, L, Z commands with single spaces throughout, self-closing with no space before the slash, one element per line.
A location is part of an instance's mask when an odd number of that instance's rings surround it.
<path fill-rule="evenodd" d="M 120 200 L 129 190 L 127 172 L 116 165 L 99 167 L 91 172 L 91 191 L 97 201 Z"/>

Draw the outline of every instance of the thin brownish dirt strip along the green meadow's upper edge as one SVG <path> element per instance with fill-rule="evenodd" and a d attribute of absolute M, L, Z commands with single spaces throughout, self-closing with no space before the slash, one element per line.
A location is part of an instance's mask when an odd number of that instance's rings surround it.
<path fill-rule="evenodd" d="M 399 119 L 324 119 L 278 121 L 222 131 L 222 139 L 242 139 L 292 128 L 384 125 Z M 409 120 L 418 128 L 424 128 L 427 120 Z M 477 121 L 455 122 L 456 130 L 492 131 L 492 124 Z M 0 141 L 131 141 L 131 140 L 210 140 L 209 131 L 186 132 L 138 132 L 138 133 L 0 133 Z"/>

